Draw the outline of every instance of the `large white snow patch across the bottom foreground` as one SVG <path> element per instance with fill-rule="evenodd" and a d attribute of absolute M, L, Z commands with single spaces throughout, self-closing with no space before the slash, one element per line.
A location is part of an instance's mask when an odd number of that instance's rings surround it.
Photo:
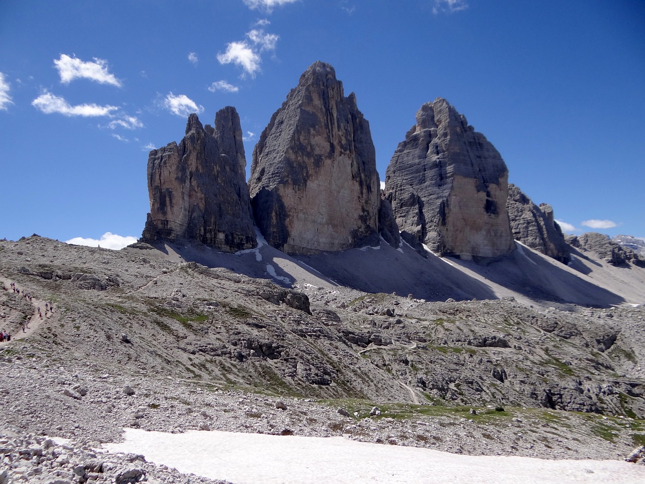
<path fill-rule="evenodd" d="M 464 456 L 342 437 L 125 429 L 110 452 L 235 484 L 642 484 L 645 467 L 623 461 Z"/>

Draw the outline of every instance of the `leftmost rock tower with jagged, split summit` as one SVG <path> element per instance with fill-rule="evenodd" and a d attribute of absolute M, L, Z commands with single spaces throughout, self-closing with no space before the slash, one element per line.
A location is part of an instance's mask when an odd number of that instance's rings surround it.
<path fill-rule="evenodd" d="M 141 241 L 199 241 L 225 252 L 255 247 L 245 166 L 235 108 L 219 110 L 214 128 L 188 116 L 181 143 L 148 156 L 150 213 Z"/>

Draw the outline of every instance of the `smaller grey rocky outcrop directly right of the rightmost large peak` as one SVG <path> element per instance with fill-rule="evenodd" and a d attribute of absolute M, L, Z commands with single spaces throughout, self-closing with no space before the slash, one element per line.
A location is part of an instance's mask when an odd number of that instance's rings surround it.
<path fill-rule="evenodd" d="M 509 183 L 506 209 L 515 240 L 563 264 L 569 263 L 569 246 L 553 218 L 551 205 L 541 203 L 538 207 L 522 190 Z"/>

